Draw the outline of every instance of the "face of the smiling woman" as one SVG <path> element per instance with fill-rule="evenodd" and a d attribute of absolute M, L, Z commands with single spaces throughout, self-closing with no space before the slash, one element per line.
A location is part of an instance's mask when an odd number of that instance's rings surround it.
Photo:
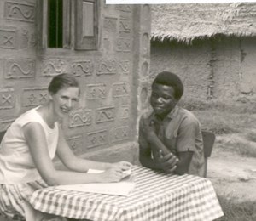
<path fill-rule="evenodd" d="M 51 94 L 50 98 L 53 101 L 55 114 L 61 117 L 67 116 L 79 102 L 79 88 L 61 88 L 56 94 Z"/>

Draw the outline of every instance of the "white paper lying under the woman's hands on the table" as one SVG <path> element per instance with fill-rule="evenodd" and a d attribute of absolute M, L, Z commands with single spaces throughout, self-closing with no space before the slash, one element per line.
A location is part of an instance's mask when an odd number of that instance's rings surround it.
<path fill-rule="evenodd" d="M 87 173 L 102 173 L 102 170 L 90 169 Z M 127 175 L 126 173 L 124 175 Z M 61 190 L 75 190 L 80 192 L 99 193 L 107 195 L 123 195 L 128 196 L 135 187 L 135 182 L 131 177 L 123 178 L 118 183 L 90 183 L 90 184 L 73 184 L 73 185 L 58 185 L 55 188 Z"/>

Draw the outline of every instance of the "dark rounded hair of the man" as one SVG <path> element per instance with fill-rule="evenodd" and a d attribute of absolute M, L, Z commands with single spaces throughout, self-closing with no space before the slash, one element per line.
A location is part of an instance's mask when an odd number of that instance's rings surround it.
<path fill-rule="evenodd" d="M 169 72 L 169 71 L 162 71 L 160 72 L 155 78 L 152 83 L 166 85 L 166 86 L 171 86 L 174 89 L 174 97 L 175 99 L 179 100 L 183 96 L 183 82 L 181 79 L 174 73 Z"/>

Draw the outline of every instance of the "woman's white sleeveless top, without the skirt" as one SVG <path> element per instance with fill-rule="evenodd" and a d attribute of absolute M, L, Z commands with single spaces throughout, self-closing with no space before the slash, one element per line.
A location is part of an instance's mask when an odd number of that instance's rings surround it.
<path fill-rule="evenodd" d="M 29 122 L 38 122 L 44 129 L 49 157 L 55 157 L 59 139 L 59 124 L 50 128 L 37 108 L 26 111 L 6 131 L 0 144 L 0 184 L 25 184 L 41 178 L 32 160 L 26 143 L 23 127 Z"/>

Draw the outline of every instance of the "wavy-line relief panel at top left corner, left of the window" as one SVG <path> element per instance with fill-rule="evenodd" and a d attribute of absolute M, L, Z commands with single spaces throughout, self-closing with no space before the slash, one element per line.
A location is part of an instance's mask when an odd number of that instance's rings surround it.
<path fill-rule="evenodd" d="M 8 20 L 34 22 L 35 19 L 35 6 L 29 3 L 8 1 L 5 3 L 4 12 L 4 16 Z"/>

